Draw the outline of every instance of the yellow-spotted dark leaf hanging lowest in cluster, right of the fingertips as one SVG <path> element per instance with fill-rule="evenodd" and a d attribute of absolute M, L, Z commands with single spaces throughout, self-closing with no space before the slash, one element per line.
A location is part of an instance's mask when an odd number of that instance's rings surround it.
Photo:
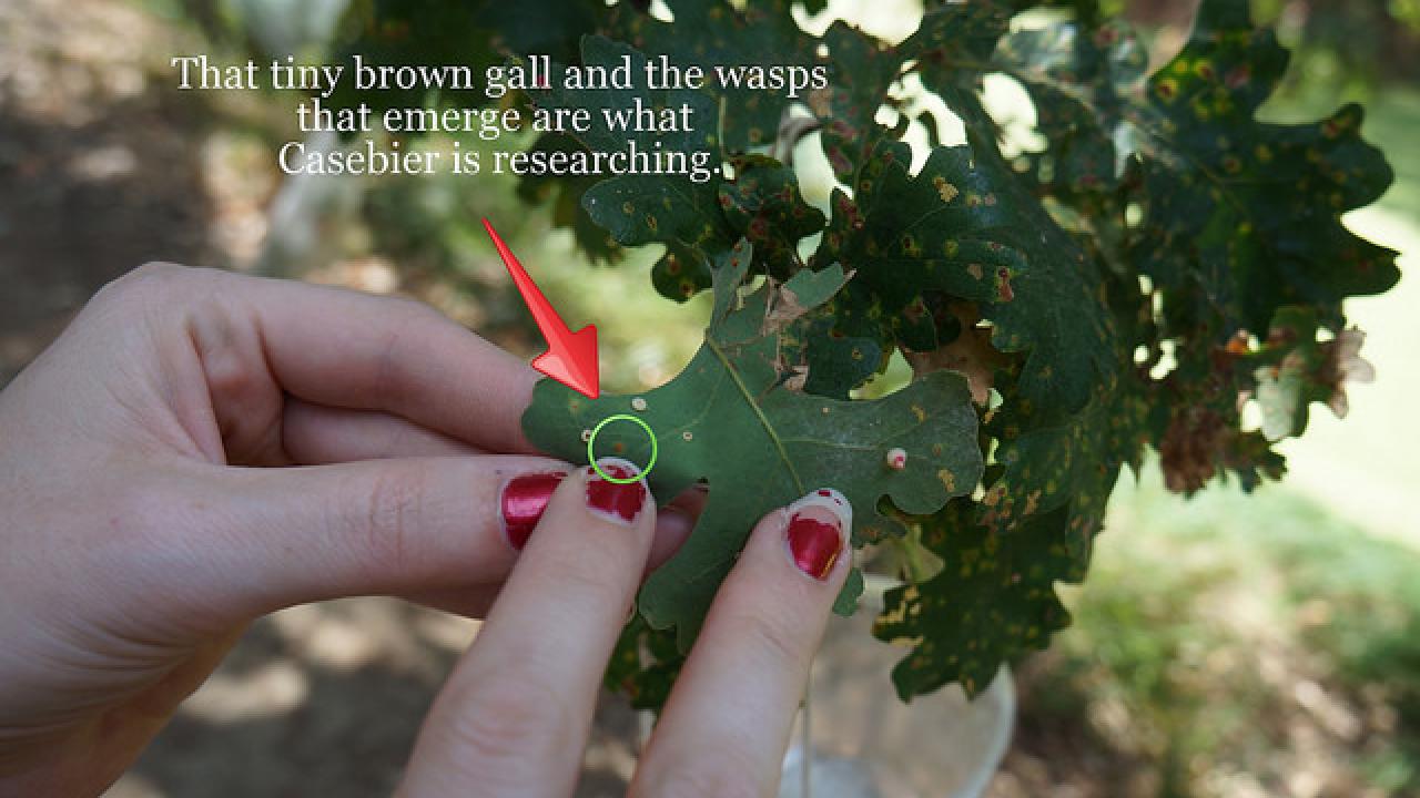
<path fill-rule="evenodd" d="M 987 426 L 1000 464 L 984 498 L 954 500 L 920 521 L 943 568 L 890 591 L 873 628 L 913 646 L 893 669 L 903 700 L 949 682 L 976 694 L 1003 662 L 1044 649 L 1069 623 L 1055 582 L 1085 578 L 1119 471 L 1137 469 L 1149 416 L 1137 383 L 1109 378 L 1064 422 L 1042 420 L 1055 413 L 1010 385 Z"/>

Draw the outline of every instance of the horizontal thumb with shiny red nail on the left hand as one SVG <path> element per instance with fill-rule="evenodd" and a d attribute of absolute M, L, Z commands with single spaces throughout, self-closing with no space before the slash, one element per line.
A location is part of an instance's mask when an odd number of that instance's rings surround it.
<path fill-rule="evenodd" d="M 409 457 L 212 469 L 214 534 L 175 532 L 213 606 L 254 616 L 310 601 L 501 584 L 523 530 L 571 469 L 542 457 Z M 216 601 L 216 599 L 222 601 Z"/>

